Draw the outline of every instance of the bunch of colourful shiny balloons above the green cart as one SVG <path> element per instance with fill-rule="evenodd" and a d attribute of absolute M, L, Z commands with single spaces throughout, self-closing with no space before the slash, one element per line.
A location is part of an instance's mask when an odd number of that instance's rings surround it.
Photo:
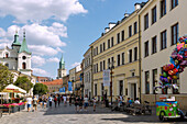
<path fill-rule="evenodd" d="M 178 79 L 185 67 L 187 67 L 187 36 L 179 37 L 176 48 L 172 53 L 170 64 L 163 66 L 163 74 L 160 75 L 160 87 L 156 88 L 178 89 L 173 80 Z"/>

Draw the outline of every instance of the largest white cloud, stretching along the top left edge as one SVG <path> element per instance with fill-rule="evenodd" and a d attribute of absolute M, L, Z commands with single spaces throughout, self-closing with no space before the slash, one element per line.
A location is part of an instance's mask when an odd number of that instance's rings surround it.
<path fill-rule="evenodd" d="M 66 21 L 69 15 L 87 13 L 79 0 L 0 0 L 0 15 L 13 15 L 16 22 Z"/>

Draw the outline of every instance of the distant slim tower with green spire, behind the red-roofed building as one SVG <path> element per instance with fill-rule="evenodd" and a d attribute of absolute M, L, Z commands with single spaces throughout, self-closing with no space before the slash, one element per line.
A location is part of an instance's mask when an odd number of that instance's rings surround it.
<path fill-rule="evenodd" d="M 62 55 L 61 61 L 59 61 L 59 69 L 58 69 L 58 79 L 66 76 L 66 69 L 65 69 L 65 61 Z"/>

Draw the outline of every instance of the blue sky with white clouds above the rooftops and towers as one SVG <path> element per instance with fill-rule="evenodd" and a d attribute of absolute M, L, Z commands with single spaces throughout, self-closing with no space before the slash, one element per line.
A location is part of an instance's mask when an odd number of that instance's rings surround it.
<path fill-rule="evenodd" d="M 0 0 L 0 48 L 11 45 L 15 30 L 22 41 L 25 29 L 34 75 L 55 78 L 62 53 L 67 70 L 72 69 L 109 22 L 121 20 L 143 1 Z"/>

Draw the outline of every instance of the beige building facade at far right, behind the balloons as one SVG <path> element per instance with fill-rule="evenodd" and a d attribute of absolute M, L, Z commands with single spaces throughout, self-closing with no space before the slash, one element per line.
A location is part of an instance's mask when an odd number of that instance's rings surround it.
<path fill-rule="evenodd" d="M 150 0 L 139 12 L 141 21 L 142 56 L 142 100 L 154 104 L 163 90 L 158 86 L 162 67 L 169 64 L 169 56 L 176 47 L 177 38 L 187 34 L 186 0 Z M 187 101 L 187 70 L 176 80 L 178 90 L 167 89 L 169 95 Z M 157 95 L 155 95 L 155 93 Z M 182 97 L 183 95 L 183 97 Z M 184 104 L 182 102 L 180 104 Z M 186 106 L 187 105 L 183 105 Z"/>

